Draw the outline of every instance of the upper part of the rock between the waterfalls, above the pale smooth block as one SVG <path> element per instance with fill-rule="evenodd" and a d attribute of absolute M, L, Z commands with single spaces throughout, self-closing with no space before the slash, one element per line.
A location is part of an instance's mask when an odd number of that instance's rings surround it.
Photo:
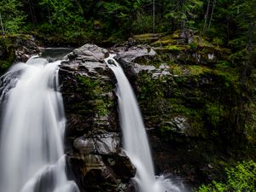
<path fill-rule="evenodd" d="M 96 45 L 85 44 L 69 54 L 76 55 L 73 60 L 61 63 L 60 80 L 67 113 L 67 136 L 82 137 L 88 131 L 95 134 L 106 130 L 116 131 L 115 81 L 113 73 L 103 62 L 106 53 L 102 53 L 102 50 Z M 95 55 L 93 51 L 96 51 Z M 92 57 L 95 61 L 91 60 Z"/>

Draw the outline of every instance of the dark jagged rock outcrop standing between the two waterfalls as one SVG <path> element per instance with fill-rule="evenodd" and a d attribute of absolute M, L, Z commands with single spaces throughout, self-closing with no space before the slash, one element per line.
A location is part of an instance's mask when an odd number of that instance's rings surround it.
<path fill-rule="evenodd" d="M 68 162 L 81 191 L 127 191 L 136 169 L 120 148 L 115 79 L 108 50 L 85 44 L 60 67 Z M 131 190 L 130 190 L 131 191 Z"/>

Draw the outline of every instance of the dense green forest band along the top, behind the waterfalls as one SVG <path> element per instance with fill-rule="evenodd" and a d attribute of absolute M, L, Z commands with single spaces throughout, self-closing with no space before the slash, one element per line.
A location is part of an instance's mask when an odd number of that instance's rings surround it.
<path fill-rule="evenodd" d="M 241 49 L 251 47 L 255 8 L 255 0 L 2 0 L 0 14 L 3 34 L 116 43 L 189 28 Z"/>

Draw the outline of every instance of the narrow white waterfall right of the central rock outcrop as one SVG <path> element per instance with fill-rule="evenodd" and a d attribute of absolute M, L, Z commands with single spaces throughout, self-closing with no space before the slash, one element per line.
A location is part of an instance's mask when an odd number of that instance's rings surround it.
<path fill-rule="evenodd" d="M 180 192 L 181 190 L 172 184 L 171 180 L 163 176 L 154 176 L 148 137 L 137 104 L 137 98 L 123 69 L 113 59 L 113 56 L 110 55 L 105 59 L 105 62 L 112 69 L 118 81 L 116 94 L 119 99 L 119 119 L 123 131 L 124 149 L 137 168 L 134 179 L 138 185 L 138 190 L 141 192 Z"/>

